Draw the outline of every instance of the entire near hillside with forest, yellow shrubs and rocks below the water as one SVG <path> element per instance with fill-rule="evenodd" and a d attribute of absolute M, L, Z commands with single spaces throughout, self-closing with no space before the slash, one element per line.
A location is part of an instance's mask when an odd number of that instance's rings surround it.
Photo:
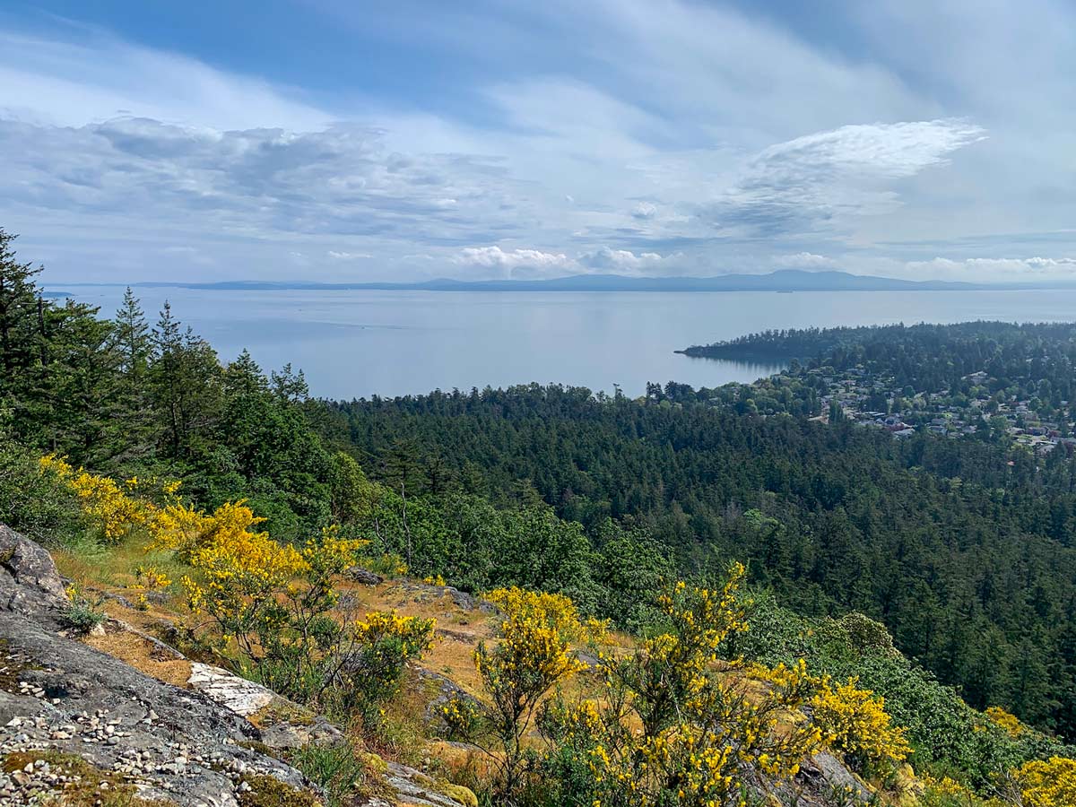
<path fill-rule="evenodd" d="M 1063 453 L 739 388 L 311 400 L 9 247 L 13 803 L 1072 802 Z"/>

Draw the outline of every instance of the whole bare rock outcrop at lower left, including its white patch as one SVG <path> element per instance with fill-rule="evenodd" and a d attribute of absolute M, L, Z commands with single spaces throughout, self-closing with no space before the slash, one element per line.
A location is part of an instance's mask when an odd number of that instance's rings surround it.
<path fill-rule="evenodd" d="M 339 728 L 260 684 L 187 662 L 159 639 L 109 620 L 109 631 L 137 636 L 153 653 L 189 666 L 185 688 L 141 672 L 69 636 L 67 607 L 48 552 L 0 524 L 0 807 L 55 801 L 72 788 L 81 789 L 80 804 L 86 788 L 102 795 L 118 790 L 124 804 L 129 795 L 154 807 L 285 804 L 281 793 L 300 791 L 306 795 L 286 804 L 318 803 L 298 770 L 264 751 L 340 742 Z M 477 807 L 466 788 L 395 763 L 378 767 L 392 797 L 367 804 Z"/>

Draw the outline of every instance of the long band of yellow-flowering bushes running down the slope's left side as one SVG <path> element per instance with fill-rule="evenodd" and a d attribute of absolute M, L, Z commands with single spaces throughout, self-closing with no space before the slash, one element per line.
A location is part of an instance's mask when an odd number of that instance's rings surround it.
<path fill-rule="evenodd" d="M 281 694 L 373 722 L 406 662 L 431 645 L 433 620 L 383 612 L 359 620 L 337 612 L 335 582 L 362 560 L 365 539 L 345 538 L 329 526 L 299 547 L 281 543 L 258 528 L 265 519 L 244 500 L 209 513 L 180 497 L 178 483 L 117 483 L 52 455 L 40 466 L 74 492 L 104 540 L 138 534 L 148 548 L 173 552 L 189 568 L 180 585 L 200 619 L 189 629 Z M 154 567 L 136 569 L 140 604 L 147 605 L 146 591 L 170 584 Z M 89 618 L 85 611 L 77 608 L 83 620 Z"/>

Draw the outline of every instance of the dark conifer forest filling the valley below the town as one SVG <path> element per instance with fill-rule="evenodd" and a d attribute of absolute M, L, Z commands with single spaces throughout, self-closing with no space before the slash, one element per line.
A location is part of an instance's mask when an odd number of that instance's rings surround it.
<path fill-rule="evenodd" d="M 1002 704 L 1076 733 L 1076 466 L 1063 450 L 1036 465 L 976 440 L 895 440 L 881 429 L 744 416 L 682 387 L 662 391 L 663 405 L 529 385 L 335 404 L 318 416 L 327 439 L 374 458 L 409 440 L 413 479 L 426 456 L 447 463 L 461 492 L 426 494 L 430 501 L 477 493 L 533 508 L 538 497 L 578 521 L 592 548 L 582 564 L 590 579 L 570 578 L 583 607 L 604 609 L 604 590 L 619 589 L 601 580 L 593 555 L 611 518 L 647 535 L 682 575 L 712 577 L 740 558 L 750 581 L 784 606 L 884 624 L 896 648 L 973 706 Z M 470 529 L 466 505 L 461 511 L 448 513 L 445 533 Z M 422 574 L 480 587 L 487 558 L 500 560 L 486 549 L 489 523 L 479 519 L 463 544 L 473 554 L 455 560 L 453 548 L 441 568 Z M 561 538 L 552 557 L 579 568 L 570 558 L 586 548 Z M 415 552 L 419 564 L 434 556 Z M 657 556 L 649 564 L 639 570 L 665 574 Z M 510 571 L 521 584 L 569 580 L 550 580 L 541 558 L 534 569 Z M 609 615 L 639 624 L 615 599 Z"/>

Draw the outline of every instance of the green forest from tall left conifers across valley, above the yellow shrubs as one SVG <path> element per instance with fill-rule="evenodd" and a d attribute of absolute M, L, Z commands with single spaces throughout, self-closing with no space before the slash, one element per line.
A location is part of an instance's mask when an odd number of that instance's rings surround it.
<path fill-rule="evenodd" d="M 720 586 L 737 561 L 748 619 L 764 629 L 722 634 L 724 653 L 854 675 L 884 695 L 917 760 L 973 788 L 999 768 L 1072 755 L 1076 466 L 1065 451 L 896 440 L 737 411 L 677 384 L 638 399 L 537 384 L 314 399 L 301 372 L 265 373 L 245 352 L 222 362 L 167 305 L 147 318 L 130 291 L 109 318 L 46 299 L 40 268 L 2 231 L 0 267 L 0 522 L 37 540 L 86 534 L 70 492 L 39 470 L 52 456 L 65 458 L 61 480 L 74 467 L 176 480 L 207 512 L 244 501 L 281 544 L 338 529 L 386 568 L 469 592 L 561 595 L 641 635 L 661 622 L 663 585 Z M 1068 354 L 1049 334 L 1004 332 L 961 326 L 950 343 L 943 327 L 909 331 L 901 355 L 949 355 L 914 371 L 943 372 L 969 341 L 990 340 L 1024 373 L 999 368 L 1013 383 L 1040 372 L 1049 396 L 1067 394 L 1071 373 L 1053 373 Z M 976 735 L 975 710 L 988 707 L 1035 728 Z"/>

